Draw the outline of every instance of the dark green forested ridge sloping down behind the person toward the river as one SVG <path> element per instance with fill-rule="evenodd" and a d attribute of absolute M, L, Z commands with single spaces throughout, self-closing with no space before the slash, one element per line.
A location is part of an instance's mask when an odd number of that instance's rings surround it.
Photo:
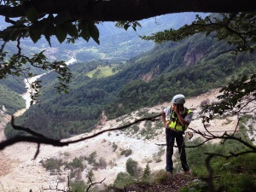
<path fill-rule="evenodd" d="M 119 67 L 119 73 L 102 79 L 90 79 L 88 73 L 96 70 L 95 66 L 118 65 L 80 63 L 71 67 L 74 81 L 69 94 L 61 96 L 55 93 L 56 82 L 49 73 L 42 78 L 48 82 L 44 83 L 41 102 L 16 122 L 49 137 L 69 137 L 90 131 L 103 110 L 108 118 L 115 118 L 137 108 L 170 102 L 177 93 L 197 96 L 243 74 L 255 73 L 255 54 L 219 54 L 227 49 L 228 45 L 211 36 L 198 34 L 180 43 L 155 45 L 128 61 L 122 70 Z M 8 127 L 5 133 L 11 137 L 15 131 Z"/>

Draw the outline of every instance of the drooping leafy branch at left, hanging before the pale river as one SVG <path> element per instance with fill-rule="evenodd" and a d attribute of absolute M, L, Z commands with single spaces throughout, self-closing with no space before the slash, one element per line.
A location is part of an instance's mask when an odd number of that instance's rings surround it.
<path fill-rule="evenodd" d="M 16 77 L 23 76 L 25 79 L 32 78 L 34 74 L 30 72 L 30 67 L 24 67 L 29 64 L 32 67 L 51 70 L 58 73 L 60 75 L 57 78 L 59 80 L 59 84 L 55 89 L 60 94 L 61 92 L 68 93 L 68 84 L 72 79 L 72 73 L 70 73 L 67 64 L 64 61 L 47 61 L 44 51 L 45 50 L 32 55 L 32 57 L 21 55 L 20 50 L 17 54 L 12 55 L 11 57 L 9 57 L 6 52 L 0 53 L 0 79 L 6 79 L 8 75 Z M 30 92 L 32 102 L 38 102 L 38 90 L 41 88 L 40 81 L 33 82 L 30 84 L 30 87 L 32 90 Z"/>

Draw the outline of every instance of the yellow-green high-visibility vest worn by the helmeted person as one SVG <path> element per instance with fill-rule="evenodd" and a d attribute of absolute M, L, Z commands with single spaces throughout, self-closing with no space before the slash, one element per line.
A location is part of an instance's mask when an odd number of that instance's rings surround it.
<path fill-rule="evenodd" d="M 183 113 L 181 113 L 181 116 L 184 119 L 189 113 L 192 113 L 192 111 L 188 108 L 184 108 Z M 170 129 L 176 131 L 185 131 L 188 128 L 189 125 L 185 125 L 185 129 L 183 130 L 183 127 L 177 118 L 177 114 L 173 111 L 172 107 L 170 109 L 170 114 L 170 120 L 167 121 L 167 123 L 169 124 L 168 127 Z"/>

